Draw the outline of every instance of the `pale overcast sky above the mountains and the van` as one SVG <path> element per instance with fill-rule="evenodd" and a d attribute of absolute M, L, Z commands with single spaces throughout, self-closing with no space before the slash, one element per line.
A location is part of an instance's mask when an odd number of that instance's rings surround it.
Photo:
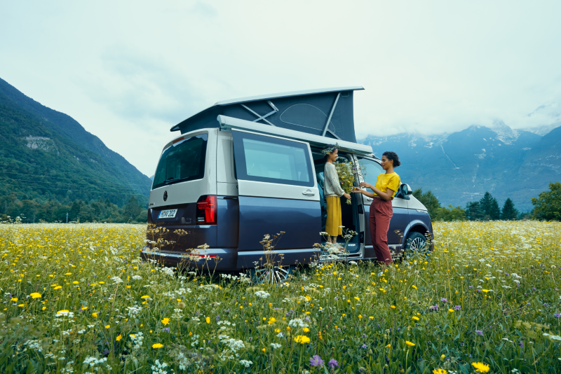
<path fill-rule="evenodd" d="M 358 137 L 550 125 L 560 14 L 558 0 L 0 0 L 0 77 L 150 176 L 170 127 L 273 92 L 362 85 Z"/>

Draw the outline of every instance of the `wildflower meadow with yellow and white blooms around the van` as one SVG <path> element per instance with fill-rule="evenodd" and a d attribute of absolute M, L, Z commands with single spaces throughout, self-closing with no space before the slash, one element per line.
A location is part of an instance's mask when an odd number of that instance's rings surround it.
<path fill-rule="evenodd" d="M 278 285 L 142 262 L 146 226 L 0 225 L 0 372 L 560 372 L 561 223 L 434 229 Z"/>

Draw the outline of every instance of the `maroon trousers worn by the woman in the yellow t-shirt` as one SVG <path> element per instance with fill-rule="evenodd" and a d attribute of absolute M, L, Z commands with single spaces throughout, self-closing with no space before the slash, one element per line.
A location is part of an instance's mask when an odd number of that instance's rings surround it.
<path fill-rule="evenodd" d="M 393 208 L 391 200 L 384 201 L 381 198 L 374 198 L 370 205 L 370 239 L 378 261 L 390 264 L 391 254 L 388 248 L 388 230 L 390 228 L 391 216 L 393 216 Z"/>

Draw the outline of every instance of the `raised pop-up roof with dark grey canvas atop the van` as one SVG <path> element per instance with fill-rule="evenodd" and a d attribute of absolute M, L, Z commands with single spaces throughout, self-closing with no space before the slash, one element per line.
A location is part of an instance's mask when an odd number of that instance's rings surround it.
<path fill-rule="evenodd" d="M 217 116 L 249 120 L 264 125 L 356 143 L 353 91 L 362 87 L 325 88 L 243 97 L 217 102 L 171 128 L 182 134 L 220 127 Z"/>

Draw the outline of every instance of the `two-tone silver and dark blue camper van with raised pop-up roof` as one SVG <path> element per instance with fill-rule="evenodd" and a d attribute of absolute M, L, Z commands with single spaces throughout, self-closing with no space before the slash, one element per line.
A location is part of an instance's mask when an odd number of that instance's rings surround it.
<path fill-rule="evenodd" d="M 384 172 L 372 147 L 356 142 L 357 90 L 363 88 L 217 102 L 172 127 L 181 134 L 165 144 L 154 173 L 142 257 L 176 265 L 193 254 L 190 249 L 206 244 L 204 253 L 190 257 L 191 266 L 210 261 L 216 270 L 250 270 L 270 256 L 261 243 L 264 236 L 278 235 L 273 262 L 280 281 L 295 265 L 322 258 L 322 249 L 314 246 L 323 240 L 327 216 L 321 150 L 339 144 L 340 160 L 359 169 L 355 186 L 374 185 Z M 374 260 L 368 226 L 372 199 L 351 196 L 350 205 L 341 205 L 344 230 L 356 233 L 345 258 Z M 410 186 L 402 184 L 392 204 L 391 251 L 430 249 L 431 219 Z"/>

